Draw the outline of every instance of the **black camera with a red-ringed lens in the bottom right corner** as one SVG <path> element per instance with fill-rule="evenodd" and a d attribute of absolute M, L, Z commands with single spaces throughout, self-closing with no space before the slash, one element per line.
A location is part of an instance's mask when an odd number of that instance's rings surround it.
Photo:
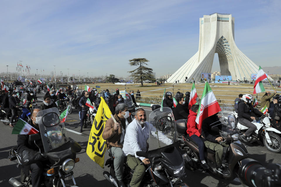
<path fill-rule="evenodd" d="M 281 165 L 268 164 L 263 166 L 251 158 L 241 160 L 238 177 L 244 186 L 277 187 L 281 186 Z"/>

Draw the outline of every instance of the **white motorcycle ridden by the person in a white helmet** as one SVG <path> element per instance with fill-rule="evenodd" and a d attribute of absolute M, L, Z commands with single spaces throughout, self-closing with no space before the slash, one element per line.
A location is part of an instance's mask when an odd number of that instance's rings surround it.
<path fill-rule="evenodd" d="M 237 118 L 238 114 L 234 112 L 234 116 Z M 281 132 L 270 125 L 268 115 L 256 117 L 256 120 L 253 120 L 252 123 L 255 124 L 257 128 L 252 133 L 252 139 L 250 142 L 260 141 L 263 142 L 268 150 L 274 153 L 281 152 Z M 248 127 L 245 127 L 239 122 L 237 123 L 237 130 L 240 135 L 242 135 L 247 129 Z M 243 141 L 241 137 L 239 137 L 239 139 Z"/>

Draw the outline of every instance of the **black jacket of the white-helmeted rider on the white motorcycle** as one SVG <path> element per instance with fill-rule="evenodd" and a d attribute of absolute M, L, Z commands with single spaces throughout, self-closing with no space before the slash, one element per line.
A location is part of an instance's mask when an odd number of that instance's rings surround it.
<path fill-rule="evenodd" d="M 247 105 L 244 101 L 238 104 L 238 118 L 245 118 L 249 121 L 253 121 L 251 120 L 251 116 L 256 117 L 256 114 L 262 116 L 263 112 L 253 108 L 253 105 Z"/>

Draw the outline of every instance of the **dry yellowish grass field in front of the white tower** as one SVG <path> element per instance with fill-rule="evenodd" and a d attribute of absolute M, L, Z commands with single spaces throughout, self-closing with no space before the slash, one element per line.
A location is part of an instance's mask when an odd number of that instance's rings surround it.
<path fill-rule="evenodd" d="M 55 87 L 66 87 L 67 85 L 59 85 L 55 84 Z M 176 92 L 182 92 L 185 93 L 187 91 L 191 91 L 192 84 L 167 84 L 167 85 L 145 85 L 140 86 L 136 84 L 128 84 L 128 85 L 114 85 L 114 84 L 87 84 L 87 86 L 91 88 L 97 88 L 98 91 L 106 90 L 108 89 L 112 94 L 116 91 L 118 88 L 119 90 L 126 90 L 129 92 L 130 90 L 134 91 L 136 102 L 138 103 L 147 103 L 145 106 L 148 106 L 149 104 L 161 104 L 162 97 L 164 94 L 164 90 L 171 91 L 172 93 Z M 204 90 L 205 84 L 196 84 L 195 88 L 197 91 L 197 95 L 200 98 L 203 90 Z M 251 86 L 251 87 L 249 87 Z M 234 100 L 238 97 L 238 95 L 249 93 L 253 94 L 253 84 L 249 84 L 246 86 L 231 86 L 227 84 L 210 84 L 211 89 L 213 90 L 213 93 L 215 94 L 217 101 L 220 104 L 220 107 L 222 110 L 225 111 L 232 111 L 234 107 Z M 78 89 L 85 89 L 85 85 L 79 85 Z M 136 92 L 137 90 L 140 91 L 140 96 L 137 96 Z M 273 91 L 272 89 L 265 89 L 266 91 Z M 280 88 L 276 89 L 278 92 L 281 91 Z M 255 95 L 258 98 L 258 102 L 261 101 L 261 97 L 264 95 L 264 93 L 258 93 Z M 142 105 L 142 104 L 141 104 Z M 144 104 L 143 104 L 144 105 Z"/>

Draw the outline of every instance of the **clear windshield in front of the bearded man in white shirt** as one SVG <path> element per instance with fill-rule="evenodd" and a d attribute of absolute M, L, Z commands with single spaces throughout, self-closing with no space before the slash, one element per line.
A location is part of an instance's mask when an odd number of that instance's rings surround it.
<path fill-rule="evenodd" d="M 165 147 L 177 141 L 177 127 L 171 108 L 163 107 L 152 111 L 149 122 L 148 150 Z"/>

